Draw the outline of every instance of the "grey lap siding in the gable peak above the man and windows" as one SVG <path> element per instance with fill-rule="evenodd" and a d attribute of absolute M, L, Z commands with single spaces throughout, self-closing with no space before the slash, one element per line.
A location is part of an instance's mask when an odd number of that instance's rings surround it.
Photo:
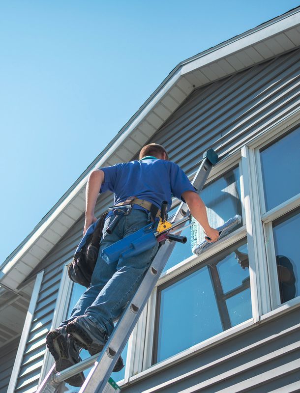
<path fill-rule="evenodd" d="M 195 90 L 151 138 L 186 172 L 209 148 L 224 157 L 297 108 L 300 51 Z"/>

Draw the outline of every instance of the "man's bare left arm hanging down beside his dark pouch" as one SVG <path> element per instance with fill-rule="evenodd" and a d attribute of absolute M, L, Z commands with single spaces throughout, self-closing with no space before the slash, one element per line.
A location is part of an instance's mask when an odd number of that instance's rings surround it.
<path fill-rule="evenodd" d="M 97 221 L 94 216 L 96 201 L 100 192 L 101 185 L 104 181 L 104 172 L 101 169 L 95 169 L 90 173 L 86 187 L 86 221 L 83 234 L 86 233 L 88 227 Z"/>

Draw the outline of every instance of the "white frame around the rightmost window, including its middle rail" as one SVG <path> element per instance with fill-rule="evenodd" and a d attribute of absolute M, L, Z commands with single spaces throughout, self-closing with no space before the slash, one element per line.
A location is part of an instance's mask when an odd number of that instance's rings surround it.
<path fill-rule="evenodd" d="M 278 138 L 280 139 L 280 137 L 283 137 L 297 126 L 300 126 L 300 109 L 283 117 L 268 132 L 248 143 L 248 145 L 244 148 L 245 155 L 248 155 L 249 157 L 250 176 L 252 176 L 252 179 L 256 178 L 256 181 L 253 180 L 251 184 L 253 185 L 252 198 L 255 198 L 258 202 L 253 205 L 252 210 L 252 219 L 255 223 L 254 226 L 257 230 L 257 234 L 259 234 L 259 236 L 256 235 L 256 243 L 258 244 L 257 251 L 259 253 L 259 250 L 265 250 L 265 253 L 260 253 L 261 259 L 258 259 L 263 260 L 263 263 L 260 263 L 258 266 L 260 317 L 275 309 L 282 309 L 276 268 L 272 222 L 300 206 L 300 194 L 298 194 L 270 209 L 268 212 L 266 211 L 260 150 Z M 289 301 L 287 303 L 290 304 L 291 307 L 295 307 L 296 304 L 300 303 L 300 296 L 293 299 L 292 302 Z"/>

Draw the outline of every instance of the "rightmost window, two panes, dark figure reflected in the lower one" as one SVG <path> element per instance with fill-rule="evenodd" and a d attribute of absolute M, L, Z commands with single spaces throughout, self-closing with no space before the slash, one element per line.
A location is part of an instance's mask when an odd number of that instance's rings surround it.
<path fill-rule="evenodd" d="M 272 308 L 300 295 L 300 127 L 259 149 Z"/>

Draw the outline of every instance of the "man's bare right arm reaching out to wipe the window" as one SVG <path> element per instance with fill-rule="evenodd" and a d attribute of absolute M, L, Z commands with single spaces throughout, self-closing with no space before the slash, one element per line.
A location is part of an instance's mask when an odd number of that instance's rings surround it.
<path fill-rule="evenodd" d="M 210 243 L 218 240 L 219 232 L 210 226 L 205 204 L 203 200 L 199 197 L 199 195 L 194 193 L 193 191 L 185 191 L 182 194 L 182 197 L 185 200 L 189 211 L 191 212 L 191 215 L 203 227 L 206 234 L 205 239 Z M 210 240 L 208 238 L 210 238 Z"/>

